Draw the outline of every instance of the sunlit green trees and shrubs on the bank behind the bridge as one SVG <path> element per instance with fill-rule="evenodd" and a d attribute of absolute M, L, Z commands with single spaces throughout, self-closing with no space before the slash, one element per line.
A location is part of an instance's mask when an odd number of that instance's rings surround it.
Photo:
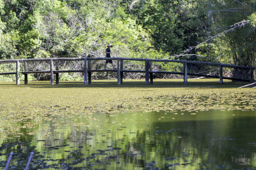
<path fill-rule="evenodd" d="M 255 0 L 0 0 L 0 59 L 104 57 L 106 45 L 113 44 L 112 57 L 255 66 L 255 12 Z M 103 61 L 92 63 L 94 69 L 103 65 Z M 1 64 L 0 72 L 15 67 Z M 60 67 L 83 69 L 83 63 L 64 62 Z M 143 70 L 144 63 L 126 61 L 125 67 Z M 49 63 L 28 65 L 29 70 L 49 68 Z M 188 69 L 218 74 L 210 67 Z M 182 65 L 156 63 L 154 70 L 182 71 Z M 243 77 L 247 73 L 224 70 L 224 74 Z M 115 73 L 92 76 L 114 78 Z M 126 78 L 140 76 L 133 73 Z M 81 78 L 81 73 L 60 75 L 60 80 Z M 0 78 L 12 79 L 10 75 Z"/>

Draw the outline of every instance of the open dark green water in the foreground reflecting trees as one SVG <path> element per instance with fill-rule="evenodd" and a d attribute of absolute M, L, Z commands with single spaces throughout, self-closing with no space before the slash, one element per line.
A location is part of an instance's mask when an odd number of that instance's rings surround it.
<path fill-rule="evenodd" d="M 30 169 L 255 169 L 255 122 L 241 110 L 59 117 L 2 139 L 0 166 L 14 152 L 9 169 L 24 169 L 33 151 Z"/>

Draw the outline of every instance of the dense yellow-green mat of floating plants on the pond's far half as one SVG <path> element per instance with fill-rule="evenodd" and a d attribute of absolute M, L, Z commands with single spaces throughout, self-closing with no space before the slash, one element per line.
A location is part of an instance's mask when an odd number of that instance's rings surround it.
<path fill-rule="evenodd" d="M 145 85 L 143 80 L 124 80 L 123 85 L 107 80 L 92 81 L 91 85 L 81 81 L 59 85 L 43 81 L 28 85 L 0 82 L 0 137 L 33 135 L 36 125 L 46 121 L 53 122 L 57 128 L 61 126 L 57 118 L 75 115 L 97 120 L 94 113 L 179 110 L 193 112 L 193 115 L 197 110 L 255 110 L 254 88 L 237 88 L 244 84 L 228 81 L 220 85 L 216 79 L 189 80 L 188 83 L 183 85 L 180 79 L 155 80 L 153 85 Z M 90 127 L 87 123 L 74 122 L 68 124 Z M 20 129 L 24 132 L 18 133 Z M 48 137 L 50 130 L 44 127 L 42 136 Z"/>

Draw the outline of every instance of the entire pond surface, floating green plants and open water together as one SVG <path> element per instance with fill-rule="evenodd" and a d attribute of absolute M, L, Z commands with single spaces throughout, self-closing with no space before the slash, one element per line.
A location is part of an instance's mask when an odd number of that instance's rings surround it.
<path fill-rule="evenodd" d="M 256 169 L 255 88 L 0 82 L 0 169 Z"/>

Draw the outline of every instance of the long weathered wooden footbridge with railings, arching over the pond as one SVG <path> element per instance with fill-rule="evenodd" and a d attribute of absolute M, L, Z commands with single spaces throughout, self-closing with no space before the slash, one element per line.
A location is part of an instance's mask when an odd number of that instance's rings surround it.
<path fill-rule="evenodd" d="M 84 61 L 84 70 L 59 70 L 59 62 L 60 61 Z M 92 70 L 91 62 L 92 60 L 117 60 L 117 70 Z M 124 70 L 124 60 L 133 60 L 133 61 L 141 61 L 145 62 L 145 70 Z M 49 71 L 28 71 L 27 64 L 28 62 L 42 62 L 48 61 L 50 62 L 50 70 Z M 55 70 L 54 68 L 55 61 Z M 174 62 L 174 63 L 183 63 L 183 72 L 171 72 L 171 71 L 153 71 L 153 63 L 154 62 Z M 91 84 L 92 82 L 92 72 L 117 72 L 117 84 L 123 84 L 123 74 L 127 72 L 139 72 L 145 73 L 145 82 L 146 84 L 153 84 L 153 74 L 178 74 L 183 75 L 184 84 L 188 84 L 188 75 L 191 76 L 199 76 L 199 77 L 208 77 L 208 78 L 219 78 L 220 84 L 223 84 L 223 79 L 229 80 L 239 80 L 245 82 L 253 82 L 253 70 L 254 67 L 246 67 L 246 66 L 238 66 L 231 64 L 222 64 L 222 63 L 207 63 L 207 62 L 196 62 L 196 61 L 185 61 L 185 60 L 158 60 L 158 59 L 141 59 L 141 58 L 122 58 L 122 57 L 112 57 L 112 58 L 91 58 L 91 57 L 82 57 L 82 58 L 40 58 L 40 59 L 13 59 L 13 60 L 0 60 L 1 63 L 16 63 L 16 71 L 15 72 L 6 72 L 0 73 L 0 75 L 16 75 L 16 85 L 20 85 L 20 73 L 25 76 L 25 85 L 28 84 L 28 74 L 36 74 L 36 73 L 48 73 L 51 75 L 51 85 L 54 84 L 54 74 L 56 75 L 56 84 L 59 84 L 59 73 L 67 73 L 67 72 L 83 72 L 84 73 L 84 84 Z M 20 63 L 24 64 L 24 71 L 20 71 Z M 200 64 L 200 65 L 209 65 L 219 67 L 219 76 L 212 75 L 204 75 L 204 74 L 195 74 L 187 72 L 187 64 Z M 234 68 L 234 69 L 243 69 L 250 70 L 250 75 L 248 79 L 239 79 L 239 78 L 229 78 L 223 77 L 222 68 Z"/>

